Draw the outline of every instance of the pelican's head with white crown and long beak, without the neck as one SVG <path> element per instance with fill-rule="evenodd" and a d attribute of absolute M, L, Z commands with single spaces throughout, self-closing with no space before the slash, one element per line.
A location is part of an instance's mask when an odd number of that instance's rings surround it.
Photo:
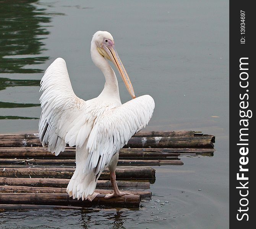
<path fill-rule="evenodd" d="M 131 84 L 131 81 L 128 77 L 128 74 L 126 73 L 122 61 L 117 54 L 117 51 L 115 50 L 115 42 L 112 35 L 107 31 L 98 31 L 93 35 L 92 41 L 95 42 L 97 51 L 100 53 L 100 55 L 104 56 L 105 59 L 113 62 L 119 71 L 120 76 L 122 77 L 123 82 L 125 83 L 125 86 L 131 97 L 135 98 L 133 85 Z"/>

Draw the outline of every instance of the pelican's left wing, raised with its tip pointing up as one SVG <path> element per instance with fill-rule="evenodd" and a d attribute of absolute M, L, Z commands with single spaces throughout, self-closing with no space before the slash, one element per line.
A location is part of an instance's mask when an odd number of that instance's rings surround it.
<path fill-rule="evenodd" d="M 57 58 L 41 80 L 42 107 L 39 139 L 55 155 L 70 146 L 81 146 L 91 132 L 93 101 L 84 101 L 73 92 L 65 60 Z"/>

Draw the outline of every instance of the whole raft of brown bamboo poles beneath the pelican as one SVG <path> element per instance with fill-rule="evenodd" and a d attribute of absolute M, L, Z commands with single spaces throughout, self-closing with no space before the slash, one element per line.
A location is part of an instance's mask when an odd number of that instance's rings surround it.
<path fill-rule="evenodd" d="M 105 199 L 112 192 L 109 170 L 100 175 L 92 201 L 73 200 L 66 187 L 75 171 L 75 147 L 55 156 L 38 134 L 0 134 L 0 209 L 139 207 L 151 198 L 155 169 L 148 165 L 183 165 L 180 156 L 213 156 L 215 136 L 194 131 L 151 131 L 135 134 L 119 151 L 117 185 L 132 195 Z M 125 166 L 125 167 L 124 167 Z"/>

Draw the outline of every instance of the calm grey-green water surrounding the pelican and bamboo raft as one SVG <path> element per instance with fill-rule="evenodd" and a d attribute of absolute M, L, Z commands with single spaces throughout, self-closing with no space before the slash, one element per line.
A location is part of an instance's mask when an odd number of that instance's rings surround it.
<path fill-rule="evenodd" d="M 2 1 L 0 12 L 1 133 L 37 132 L 39 82 L 58 56 L 78 97 L 99 95 L 90 42 L 107 30 L 135 94 L 156 102 L 147 130 L 216 135 L 213 157 L 153 167 L 152 201 L 139 210 L 5 211 L 0 228 L 228 228 L 228 1 Z"/>

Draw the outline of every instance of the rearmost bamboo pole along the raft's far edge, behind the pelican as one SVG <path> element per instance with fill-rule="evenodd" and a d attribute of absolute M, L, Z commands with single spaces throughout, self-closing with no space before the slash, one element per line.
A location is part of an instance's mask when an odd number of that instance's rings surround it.
<path fill-rule="evenodd" d="M 140 131 L 134 137 L 193 137 L 194 131 Z M 38 139 L 38 133 L 0 134 L 0 139 Z"/>

